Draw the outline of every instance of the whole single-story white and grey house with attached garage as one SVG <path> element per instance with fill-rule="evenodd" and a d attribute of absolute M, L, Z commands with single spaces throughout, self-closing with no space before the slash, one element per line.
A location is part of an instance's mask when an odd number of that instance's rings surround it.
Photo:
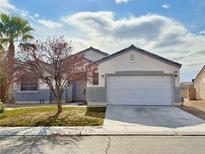
<path fill-rule="evenodd" d="M 181 102 L 181 64 L 177 62 L 134 45 L 112 55 L 94 48 L 80 54 L 97 66 L 96 78 L 75 81 L 65 90 L 65 102 L 86 101 L 88 106 L 176 105 Z M 52 102 L 52 93 L 44 86 L 22 83 L 15 92 L 15 99 L 17 102 Z"/>

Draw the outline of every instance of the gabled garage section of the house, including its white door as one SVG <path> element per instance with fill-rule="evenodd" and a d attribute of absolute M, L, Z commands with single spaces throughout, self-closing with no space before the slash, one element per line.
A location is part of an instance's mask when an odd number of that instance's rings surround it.
<path fill-rule="evenodd" d="M 98 81 L 87 83 L 89 106 L 181 102 L 179 63 L 131 45 L 93 64 L 97 65 Z"/>

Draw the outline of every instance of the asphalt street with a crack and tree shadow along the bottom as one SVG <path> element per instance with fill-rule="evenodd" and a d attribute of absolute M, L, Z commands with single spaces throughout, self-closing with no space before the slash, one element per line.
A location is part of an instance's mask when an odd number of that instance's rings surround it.
<path fill-rule="evenodd" d="M 1 154 L 204 154 L 200 136 L 11 136 Z"/>

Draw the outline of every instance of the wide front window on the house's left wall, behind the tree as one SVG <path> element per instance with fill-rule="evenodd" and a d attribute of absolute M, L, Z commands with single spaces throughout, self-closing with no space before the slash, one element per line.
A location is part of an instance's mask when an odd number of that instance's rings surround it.
<path fill-rule="evenodd" d="M 38 81 L 22 81 L 21 82 L 21 91 L 37 91 L 38 90 Z"/>

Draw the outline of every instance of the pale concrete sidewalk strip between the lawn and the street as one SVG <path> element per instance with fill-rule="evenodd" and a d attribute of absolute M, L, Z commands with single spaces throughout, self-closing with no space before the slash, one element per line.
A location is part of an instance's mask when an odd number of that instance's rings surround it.
<path fill-rule="evenodd" d="M 205 136 L 205 124 L 189 127 L 166 128 L 154 126 L 84 126 L 84 127 L 0 127 L 0 136 L 46 135 L 164 135 Z"/>

